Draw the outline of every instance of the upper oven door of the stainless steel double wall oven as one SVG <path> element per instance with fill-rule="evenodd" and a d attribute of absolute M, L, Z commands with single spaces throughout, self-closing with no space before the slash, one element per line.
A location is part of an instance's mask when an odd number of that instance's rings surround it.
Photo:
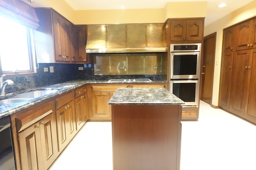
<path fill-rule="evenodd" d="M 171 79 L 198 79 L 200 52 L 173 52 L 170 60 Z"/>

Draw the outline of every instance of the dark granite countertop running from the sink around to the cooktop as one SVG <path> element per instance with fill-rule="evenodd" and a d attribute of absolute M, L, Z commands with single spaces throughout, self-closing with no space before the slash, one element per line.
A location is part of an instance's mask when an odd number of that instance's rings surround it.
<path fill-rule="evenodd" d="M 29 107 L 35 106 L 36 104 L 40 104 L 50 98 L 54 98 L 60 94 L 64 94 L 70 90 L 76 89 L 85 84 L 124 84 L 124 83 L 126 82 L 108 82 L 108 80 L 72 80 L 72 81 L 58 83 L 50 86 L 38 87 L 30 90 L 14 92 L 12 94 L 6 94 L 6 96 L 1 96 L 0 100 L 12 98 L 12 96 L 15 96 L 17 94 L 36 91 L 36 90 L 56 90 L 56 92 L 54 93 L 47 94 L 39 98 L 35 98 L 33 100 L 29 100 L 27 102 L 13 103 L 13 104 L 0 104 L 0 119 L 2 117 L 6 117 L 18 111 L 22 111 Z M 141 83 L 141 82 L 133 82 L 133 83 Z M 167 81 L 159 80 L 159 81 L 152 81 L 150 83 L 167 83 Z"/>

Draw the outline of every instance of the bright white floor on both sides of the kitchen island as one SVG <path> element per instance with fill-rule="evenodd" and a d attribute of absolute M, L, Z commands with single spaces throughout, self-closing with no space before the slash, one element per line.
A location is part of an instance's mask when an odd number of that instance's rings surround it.
<path fill-rule="evenodd" d="M 256 125 L 200 101 L 182 121 L 180 170 L 256 170 Z M 87 122 L 50 170 L 112 170 L 111 122 Z"/>

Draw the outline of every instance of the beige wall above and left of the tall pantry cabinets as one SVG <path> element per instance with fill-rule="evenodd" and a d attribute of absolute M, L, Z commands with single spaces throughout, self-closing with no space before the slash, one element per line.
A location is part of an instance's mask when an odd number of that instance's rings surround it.
<path fill-rule="evenodd" d="M 214 67 L 214 82 L 213 82 L 213 93 L 212 93 L 212 104 L 214 106 L 218 106 L 223 29 L 231 25 L 234 25 L 236 23 L 239 23 L 240 21 L 251 18 L 253 16 L 256 16 L 256 0 L 228 14 L 227 16 L 221 18 L 220 20 L 217 20 L 214 23 L 211 23 L 210 25 L 207 25 L 206 27 L 204 27 L 204 36 L 217 32 L 215 62 L 218 62 L 218 65 L 215 64 L 215 67 Z"/>

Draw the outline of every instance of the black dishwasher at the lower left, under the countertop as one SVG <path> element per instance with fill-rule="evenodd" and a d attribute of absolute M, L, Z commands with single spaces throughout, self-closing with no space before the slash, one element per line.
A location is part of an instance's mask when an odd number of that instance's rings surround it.
<path fill-rule="evenodd" d="M 0 119 L 0 170 L 15 170 L 10 116 Z"/>

